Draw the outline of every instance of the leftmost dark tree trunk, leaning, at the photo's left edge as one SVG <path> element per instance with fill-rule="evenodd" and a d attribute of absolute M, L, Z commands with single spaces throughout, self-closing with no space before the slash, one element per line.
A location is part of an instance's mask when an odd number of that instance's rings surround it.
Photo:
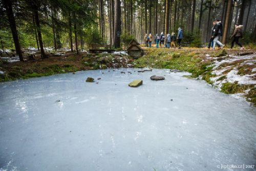
<path fill-rule="evenodd" d="M 11 31 L 12 31 L 12 38 L 13 38 L 13 41 L 14 41 L 16 53 L 19 56 L 19 60 L 23 61 L 22 50 L 20 49 L 20 44 L 19 44 L 19 39 L 18 39 L 18 32 L 17 32 L 17 28 L 16 28 L 16 22 L 15 22 L 15 18 L 14 18 L 13 11 L 12 11 L 12 1 L 3 0 L 3 3 L 4 3 L 4 6 L 5 6 L 5 9 L 6 9 L 6 12 L 7 12 L 10 28 L 11 28 Z"/>

